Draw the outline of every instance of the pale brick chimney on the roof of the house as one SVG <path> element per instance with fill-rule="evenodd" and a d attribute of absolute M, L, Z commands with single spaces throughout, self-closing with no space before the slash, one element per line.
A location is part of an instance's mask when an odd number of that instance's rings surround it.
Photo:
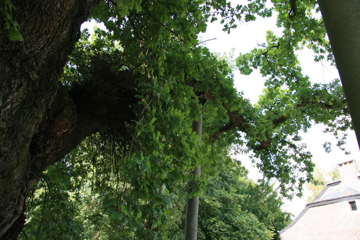
<path fill-rule="evenodd" d="M 360 191 L 359 171 L 354 160 L 338 164 L 341 183 L 353 190 Z"/>

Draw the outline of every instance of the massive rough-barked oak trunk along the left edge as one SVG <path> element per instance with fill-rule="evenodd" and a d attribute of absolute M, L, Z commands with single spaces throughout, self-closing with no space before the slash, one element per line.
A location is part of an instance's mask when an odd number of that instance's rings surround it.
<path fill-rule="evenodd" d="M 59 79 L 81 23 L 99 1 L 11 2 L 24 42 L 9 41 L 7 31 L 0 29 L 2 239 L 19 234 L 27 193 L 41 173 L 88 134 L 75 135 L 76 105 Z"/>

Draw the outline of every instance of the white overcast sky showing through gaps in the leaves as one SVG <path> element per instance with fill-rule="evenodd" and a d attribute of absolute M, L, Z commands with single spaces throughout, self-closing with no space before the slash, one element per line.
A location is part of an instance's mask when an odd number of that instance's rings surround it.
<path fill-rule="evenodd" d="M 219 23 L 212 23 L 208 25 L 207 32 L 202 34 L 203 41 L 216 38 L 206 42 L 206 46 L 213 52 L 228 53 L 232 48 L 235 48 L 235 58 L 238 54 L 249 52 L 251 49 L 257 47 L 257 44 L 265 42 L 265 33 L 267 30 L 272 30 L 278 35 L 281 34 L 281 29 L 277 29 L 276 17 L 271 19 L 257 19 L 255 22 L 242 23 L 238 28 L 232 29 L 230 34 L 222 31 L 222 26 Z M 328 83 L 335 78 L 339 78 L 337 69 L 332 67 L 330 63 L 323 61 L 315 63 L 313 61 L 314 54 L 310 50 L 303 50 L 298 53 L 304 75 L 308 75 L 313 83 Z M 239 91 L 244 92 L 244 96 L 250 99 L 251 103 L 256 103 L 259 95 L 263 89 L 264 79 L 258 72 L 252 73 L 250 76 L 242 76 L 238 71 L 235 71 L 235 87 Z M 323 126 L 315 125 L 308 133 L 302 134 L 303 142 L 308 145 L 308 149 L 313 154 L 313 162 L 317 167 L 326 172 L 332 170 L 336 164 L 348 160 L 360 160 L 360 152 L 357 146 L 357 141 L 354 132 L 349 132 L 348 144 L 346 148 L 351 152 L 350 155 L 345 155 L 336 146 L 336 139 L 331 134 L 322 132 Z M 332 142 L 332 152 L 327 154 L 322 147 L 326 141 Z M 253 180 L 261 178 L 259 171 L 253 167 L 251 160 L 246 155 L 236 156 L 241 160 L 242 164 L 249 170 L 249 177 Z M 307 203 L 307 196 L 300 199 L 295 197 L 292 201 L 284 199 L 284 210 L 291 212 L 295 217 L 305 208 Z"/>

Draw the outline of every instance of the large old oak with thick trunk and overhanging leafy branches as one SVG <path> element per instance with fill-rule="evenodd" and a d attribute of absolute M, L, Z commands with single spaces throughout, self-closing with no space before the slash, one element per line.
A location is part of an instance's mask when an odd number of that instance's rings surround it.
<path fill-rule="evenodd" d="M 303 47 L 315 61 L 334 61 L 322 19 L 313 15 L 317 2 L 271 2 L 3 1 L 0 236 L 19 233 L 27 194 L 74 149 L 79 156 L 97 152 L 67 164 L 91 163 L 92 188 L 114 188 L 94 196 L 118 213 L 109 220 L 124 228 L 126 215 L 135 214 L 154 238 L 190 171 L 201 164 L 201 189 L 233 144 L 260 159 L 260 171 L 279 180 L 284 196 L 299 194 L 314 169 L 299 132 L 321 122 L 339 135 L 352 124 L 339 80 L 311 84 L 297 61 L 295 50 Z M 268 32 L 266 43 L 240 54 L 236 69 L 197 38 L 209 21 L 219 19 L 230 31 L 238 21 L 272 14 L 283 35 Z M 90 19 L 106 27 L 91 39 L 79 32 Z M 232 72 L 257 68 L 265 90 L 251 105 L 233 88 Z M 191 130 L 200 113 L 201 146 Z M 123 191 L 134 198 L 119 201 Z"/>

